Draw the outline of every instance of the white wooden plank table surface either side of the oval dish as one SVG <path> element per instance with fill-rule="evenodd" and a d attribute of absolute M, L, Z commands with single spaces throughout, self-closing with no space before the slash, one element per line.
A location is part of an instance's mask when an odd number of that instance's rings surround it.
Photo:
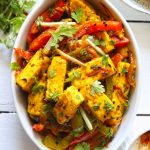
<path fill-rule="evenodd" d="M 142 62 L 141 101 L 135 125 L 150 126 L 150 15 L 137 12 L 121 0 L 110 0 L 129 22 L 140 48 Z M 20 125 L 10 86 L 11 50 L 0 46 L 0 150 L 37 150 Z M 133 129 L 132 134 L 135 133 Z M 126 142 L 130 140 L 127 137 Z"/>

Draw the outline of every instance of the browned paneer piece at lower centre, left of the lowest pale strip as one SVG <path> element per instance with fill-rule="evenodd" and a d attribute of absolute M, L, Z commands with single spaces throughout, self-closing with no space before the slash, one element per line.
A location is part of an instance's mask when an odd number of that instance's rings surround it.
<path fill-rule="evenodd" d="M 74 86 L 67 88 L 54 107 L 54 116 L 59 124 L 68 122 L 76 113 L 84 98 Z"/>

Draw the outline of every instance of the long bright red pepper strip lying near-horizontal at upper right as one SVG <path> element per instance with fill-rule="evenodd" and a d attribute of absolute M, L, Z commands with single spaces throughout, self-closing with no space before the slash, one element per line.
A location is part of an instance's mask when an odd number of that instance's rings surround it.
<path fill-rule="evenodd" d="M 122 23 L 118 21 L 100 21 L 100 22 L 91 22 L 85 23 L 79 27 L 79 30 L 76 33 L 76 37 L 80 38 L 85 34 L 94 34 L 99 31 L 118 31 L 122 29 Z"/>

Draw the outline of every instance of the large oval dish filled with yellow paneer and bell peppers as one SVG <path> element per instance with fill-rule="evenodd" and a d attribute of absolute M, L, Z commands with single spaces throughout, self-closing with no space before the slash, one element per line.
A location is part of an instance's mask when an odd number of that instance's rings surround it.
<path fill-rule="evenodd" d="M 40 149 L 117 149 L 116 132 L 136 98 L 134 37 L 108 2 L 98 3 L 100 12 L 84 0 L 46 4 L 28 16 L 14 47 L 20 120 Z"/>

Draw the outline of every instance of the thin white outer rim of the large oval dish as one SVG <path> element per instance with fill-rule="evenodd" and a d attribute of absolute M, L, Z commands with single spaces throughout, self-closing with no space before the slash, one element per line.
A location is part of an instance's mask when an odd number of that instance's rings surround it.
<path fill-rule="evenodd" d="M 140 92 L 140 89 L 139 89 L 139 85 L 140 85 L 140 83 L 141 83 L 141 79 L 139 80 L 139 77 L 141 77 L 141 73 L 140 73 L 140 55 L 139 55 L 139 48 L 138 48 L 138 44 L 137 44 L 137 42 L 136 42 L 136 39 L 135 39 L 135 37 L 134 37 L 134 34 L 133 34 L 133 32 L 132 32 L 132 30 L 131 30 L 131 28 L 130 28 L 130 26 L 128 25 L 128 23 L 126 22 L 126 20 L 125 20 L 125 18 L 121 15 L 121 13 L 115 8 L 115 6 L 111 3 L 111 2 L 109 2 L 108 0 L 102 0 L 103 1 L 103 3 L 104 4 L 107 4 L 110 8 L 111 8 L 111 10 L 112 10 L 112 12 L 115 14 L 115 16 L 117 16 L 117 18 L 119 19 L 119 20 L 121 20 L 122 21 L 122 23 L 125 25 L 125 28 L 126 28 L 126 30 L 128 31 L 126 31 L 127 32 L 127 34 L 128 34 L 128 36 L 130 37 L 130 39 L 132 39 L 132 44 L 133 44 L 133 47 L 134 47 L 134 53 L 135 53 L 135 55 L 136 55 L 136 61 L 137 61 L 137 87 L 136 87 L 136 95 L 137 96 L 139 96 L 140 94 L 139 94 L 139 92 Z M 43 3 L 44 3 L 45 1 L 43 0 Z M 35 7 L 34 7 L 34 9 L 30 12 L 30 14 L 27 16 L 27 18 L 26 18 L 26 20 L 25 20 L 25 22 L 23 23 L 23 25 L 22 25 L 22 27 L 21 27 L 21 29 L 20 29 L 20 32 L 19 32 L 19 34 L 18 34 L 18 36 L 17 36 L 17 39 L 16 39 L 16 42 L 15 42 L 15 45 L 14 46 L 17 46 L 18 45 L 18 41 L 19 41 L 19 39 L 20 39 L 20 37 L 21 37 L 21 35 L 22 35 L 22 29 L 24 29 L 25 28 L 25 26 L 26 26 L 26 24 L 27 24 L 27 22 L 28 21 L 30 21 L 30 19 L 32 18 L 32 16 L 33 16 L 33 14 L 34 13 L 36 13 L 37 12 L 37 10 L 41 7 L 41 5 L 42 5 L 42 3 L 41 4 L 38 4 L 38 5 L 35 5 Z M 15 61 L 15 57 L 14 57 L 14 51 L 12 52 L 12 59 L 11 59 L 11 62 L 13 62 L 13 61 Z M 33 141 L 33 143 L 38 147 L 38 148 L 40 148 L 40 149 L 45 149 L 45 150 L 48 150 L 48 148 L 46 148 L 45 146 L 43 147 L 42 145 L 40 145 L 38 142 L 37 142 L 37 140 L 34 138 L 34 137 L 32 137 L 32 135 L 27 131 L 27 129 L 26 129 L 26 127 L 25 127 L 25 124 L 24 124 L 24 120 L 23 120 L 23 118 L 21 118 L 21 114 L 20 114 L 20 110 L 19 110 L 19 105 L 17 104 L 17 96 L 16 96 L 16 91 L 15 91 L 15 84 L 16 84 L 16 81 L 15 81 L 15 77 L 14 77 L 14 73 L 12 72 L 11 73 L 11 87 L 12 87 L 12 93 L 13 93 L 13 99 L 14 99 L 14 103 L 15 103 L 15 107 L 16 107 L 16 111 L 17 111 L 17 114 L 18 114 L 18 116 L 19 116 L 19 119 L 20 119 L 20 122 L 21 122 L 21 125 L 23 126 L 23 128 L 24 128 L 24 130 L 26 131 L 26 134 L 29 136 L 29 138 Z M 131 117 L 129 118 L 128 117 L 128 122 L 129 122 L 129 124 L 128 124 L 128 131 L 131 129 L 131 127 L 132 127 L 132 123 L 131 122 L 133 122 L 133 120 L 134 120 L 134 118 L 135 118 L 135 115 L 136 115 L 136 111 L 137 111 L 137 108 L 138 108 L 138 104 L 139 104 L 139 100 L 137 99 L 137 96 L 136 96 L 136 101 L 135 101 L 135 108 L 134 108 L 134 110 L 132 111 L 132 114 L 130 115 Z M 126 114 L 125 114 L 126 115 Z M 125 119 L 125 116 L 124 116 L 124 119 Z M 127 136 L 127 134 L 128 134 L 128 132 L 126 132 L 126 133 L 124 133 L 124 136 L 122 137 L 122 139 L 120 140 L 121 141 L 121 143 L 119 143 L 119 145 L 116 147 L 116 149 L 123 143 L 123 140 L 125 140 L 125 138 L 126 138 L 126 136 Z M 111 145 L 111 143 L 110 143 L 110 145 Z"/>

